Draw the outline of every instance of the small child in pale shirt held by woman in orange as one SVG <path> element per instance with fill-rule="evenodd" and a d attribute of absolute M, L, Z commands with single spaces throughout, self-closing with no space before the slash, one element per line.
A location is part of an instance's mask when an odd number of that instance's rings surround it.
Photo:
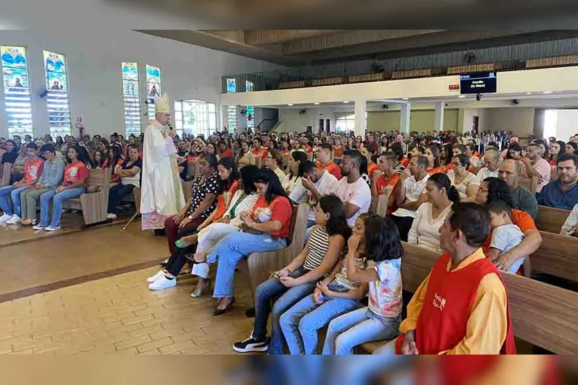
<path fill-rule="evenodd" d="M 492 262 L 496 262 L 498 257 L 519 245 L 524 239 L 524 233 L 520 227 L 512 223 L 512 209 L 503 202 L 496 200 L 487 206 L 490 215 L 490 225 L 492 229 L 491 243 L 487 256 Z M 525 258 L 516 260 L 509 268 L 510 274 L 516 274 Z"/>

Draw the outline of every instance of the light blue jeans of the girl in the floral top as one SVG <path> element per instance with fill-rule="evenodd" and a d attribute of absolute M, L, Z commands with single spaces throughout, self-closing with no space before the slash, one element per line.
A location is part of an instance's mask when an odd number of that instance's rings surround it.
<path fill-rule="evenodd" d="M 329 323 L 323 354 L 352 355 L 357 345 L 397 337 L 399 321 L 400 317 L 379 317 L 368 307 L 343 314 Z"/>

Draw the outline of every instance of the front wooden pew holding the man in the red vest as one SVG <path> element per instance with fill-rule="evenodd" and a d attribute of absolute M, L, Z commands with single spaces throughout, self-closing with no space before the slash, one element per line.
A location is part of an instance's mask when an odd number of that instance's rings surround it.
<path fill-rule="evenodd" d="M 440 254 L 404 243 L 401 279 L 404 290 L 415 292 Z M 557 354 L 578 353 L 578 293 L 515 274 L 503 273 L 514 335 Z M 372 353 L 388 341 L 360 346 Z"/>

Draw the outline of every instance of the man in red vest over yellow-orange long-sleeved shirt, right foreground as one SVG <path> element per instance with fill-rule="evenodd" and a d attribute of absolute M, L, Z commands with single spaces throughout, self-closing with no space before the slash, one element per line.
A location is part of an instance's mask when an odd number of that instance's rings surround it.
<path fill-rule="evenodd" d="M 453 206 L 440 228 L 445 250 L 419 285 L 401 336 L 378 353 L 515 354 L 505 285 L 482 251 L 489 213 L 476 203 Z"/>

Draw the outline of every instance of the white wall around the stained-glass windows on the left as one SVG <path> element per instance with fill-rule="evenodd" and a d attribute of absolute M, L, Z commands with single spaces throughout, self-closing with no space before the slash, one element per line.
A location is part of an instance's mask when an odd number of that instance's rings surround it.
<path fill-rule="evenodd" d="M 143 113 L 147 111 L 142 92 L 145 89 L 146 64 L 161 67 L 163 90 L 171 100 L 199 99 L 217 104 L 222 93 L 222 75 L 281 68 L 179 41 L 108 28 L 69 32 L 2 30 L 0 45 L 28 48 L 33 123 L 37 136 L 48 132 L 46 100 L 37 96 L 46 89 L 43 49 L 66 55 L 72 119 L 75 122 L 82 117 L 84 127 L 91 134 L 125 131 L 121 62 L 138 62 Z M 143 124 L 147 119 L 143 116 Z M 3 90 L 0 90 L 0 122 L 0 136 L 8 135 L 4 123 Z"/>

